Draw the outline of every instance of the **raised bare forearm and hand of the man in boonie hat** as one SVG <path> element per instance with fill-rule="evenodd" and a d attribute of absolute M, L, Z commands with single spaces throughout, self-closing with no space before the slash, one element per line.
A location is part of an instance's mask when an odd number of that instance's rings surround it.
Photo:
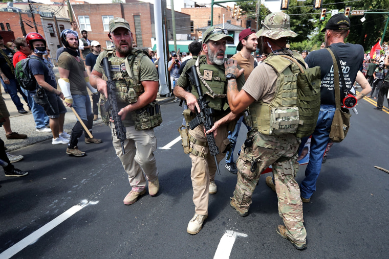
<path fill-rule="evenodd" d="M 240 77 L 245 69 L 237 67 L 237 61 L 228 59 L 224 62 L 225 74 L 233 74 L 236 78 Z M 227 82 L 227 99 L 231 112 L 239 114 L 244 111 L 255 99 L 250 96 L 245 90 L 237 89 L 236 79 L 229 79 Z"/>

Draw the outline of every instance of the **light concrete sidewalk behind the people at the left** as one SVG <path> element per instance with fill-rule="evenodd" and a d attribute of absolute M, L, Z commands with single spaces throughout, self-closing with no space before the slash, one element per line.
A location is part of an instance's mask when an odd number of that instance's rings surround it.
<path fill-rule="evenodd" d="M 55 67 L 57 68 L 57 67 Z M 56 70 L 54 68 L 54 70 Z M 55 71 L 56 72 L 56 71 Z M 32 116 L 31 111 L 28 110 L 26 102 L 18 93 L 21 103 L 23 103 L 24 109 L 28 111 L 27 114 L 20 114 L 17 112 L 15 104 L 12 102 L 11 97 L 8 93 L 5 93 L 4 88 L 2 87 L 3 97 L 5 98 L 5 103 L 7 105 L 8 111 L 10 113 L 10 122 L 11 129 L 14 132 L 18 132 L 20 134 L 27 134 L 26 139 L 7 139 L 6 133 L 4 129 L 0 129 L 0 138 L 3 139 L 7 152 L 13 151 L 19 148 L 27 147 L 32 144 L 42 142 L 47 139 L 51 139 L 53 135 L 51 133 L 42 133 L 36 132 L 34 118 Z M 157 101 L 160 104 L 172 101 L 174 97 L 157 97 Z M 92 100 L 91 100 L 92 103 Z M 65 122 L 63 124 L 63 130 L 68 132 L 69 134 L 72 131 L 74 124 L 76 123 L 76 116 L 72 112 L 70 108 L 67 108 L 68 112 L 65 115 Z M 93 122 L 93 125 L 101 124 L 101 117 L 99 114 L 99 119 Z"/>

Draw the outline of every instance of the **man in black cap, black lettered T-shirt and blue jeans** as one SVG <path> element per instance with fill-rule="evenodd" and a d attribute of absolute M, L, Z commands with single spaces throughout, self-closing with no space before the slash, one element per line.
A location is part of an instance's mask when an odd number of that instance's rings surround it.
<path fill-rule="evenodd" d="M 300 192 L 302 202 L 310 202 L 312 194 L 316 190 L 316 180 L 321 170 L 323 155 L 327 145 L 330 142 L 330 131 L 327 125 L 332 124 L 336 103 L 334 90 L 334 62 L 328 49 L 330 49 L 338 62 L 341 63 L 345 88 L 351 90 L 354 81 L 359 83 L 362 91 L 356 96 L 357 100 L 362 99 L 371 90 L 368 81 L 364 78 L 359 68 L 363 63 L 364 51 L 361 45 L 344 43 L 344 38 L 350 32 L 350 19 L 344 14 L 335 14 L 327 22 L 321 32 L 325 32 L 325 43 L 327 48 L 313 51 L 308 54 L 305 62 L 309 67 L 320 66 L 321 84 L 320 84 L 320 112 L 315 131 L 311 138 L 311 149 L 309 163 L 305 171 L 305 179 L 300 183 Z M 339 78 L 340 79 L 340 78 Z M 343 87 L 340 87 L 340 100 L 343 100 L 345 93 Z M 305 143 L 304 138 L 301 143 Z M 302 147 L 300 146 L 300 150 Z M 301 153 L 301 151 L 299 151 Z"/>

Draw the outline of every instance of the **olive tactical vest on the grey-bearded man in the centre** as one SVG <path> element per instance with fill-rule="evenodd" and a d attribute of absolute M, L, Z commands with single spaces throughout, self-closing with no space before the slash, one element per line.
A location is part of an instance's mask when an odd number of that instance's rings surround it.
<path fill-rule="evenodd" d="M 217 111 L 226 111 L 229 106 L 227 104 L 227 80 L 224 73 L 224 69 L 221 69 L 218 65 L 209 65 L 207 64 L 207 57 L 201 55 L 199 57 L 193 57 L 194 60 L 199 60 L 199 71 L 202 75 L 204 81 L 208 84 L 210 89 L 205 86 L 202 80 L 201 91 L 204 94 L 208 95 L 207 101 L 209 101 L 209 107 Z M 199 95 L 196 90 L 196 86 L 192 85 L 191 93 L 199 98 Z"/>

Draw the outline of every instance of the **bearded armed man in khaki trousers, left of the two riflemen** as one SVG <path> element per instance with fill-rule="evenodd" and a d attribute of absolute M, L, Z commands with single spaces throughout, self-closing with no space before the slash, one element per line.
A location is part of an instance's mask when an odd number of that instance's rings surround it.
<path fill-rule="evenodd" d="M 154 102 L 158 92 L 158 73 L 146 52 L 134 49 L 133 33 L 129 24 L 123 18 L 114 18 L 109 23 L 109 37 L 115 49 L 100 53 L 91 73 L 91 83 L 102 94 L 100 114 L 102 120 L 112 128 L 113 145 L 116 155 L 120 158 L 125 172 L 128 174 L 131 192 L 124 198 L 125 205 L 131 205 L 138 197 L 146 193 L 156 196 L 159 191 L 158 170 L 154 152 L 157 149 L 157 139 L 154 127 L 162 122 L 159 105 Z M 120 111 L 123 130 L 126 136 L 122 152 L 121 142 L 116 135 L 114 122 L 101 106 L 109 97 L 106 75 L 101 62 L 107 57 L 110 64 L 111 77 L 115 83 L 116 100 Z M 104 75 L 104 78 L 103 78 Z M 142 172 L 143 171 L 143 172 Z M 144 177 L 143 173 L 146 175 Z"/>

